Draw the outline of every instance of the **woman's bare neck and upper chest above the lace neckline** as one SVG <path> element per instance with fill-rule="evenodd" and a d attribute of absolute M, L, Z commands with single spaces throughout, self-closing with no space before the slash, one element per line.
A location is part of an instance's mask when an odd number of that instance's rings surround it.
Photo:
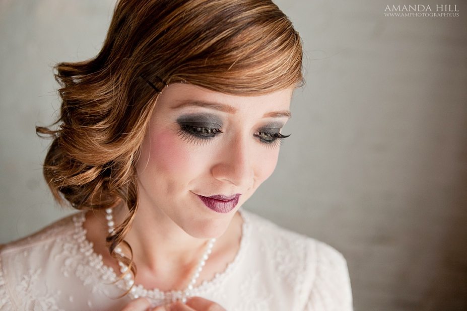
<path fill-rule="evenodd" d="M 116 224 L 121 223 L 126 215 L 126 208 L 113 209 Z M 93 242 L 95 251 L 103 255 L 104 263 L 114 270 L 118 269 L 116 260 L 108 255 L 105 245 L 105 211 L 90 212 L 87 218 L 85 228 L 88 230 L 88 240 Z M 233 260 L 240 246 L 242 222 L 241 216 L 236 213 L 224 234 L 214 244 L 207 264 L 211 269 L 205 268 L 199 281 L 211 279 L 215 273 L 223 272 Z M 136 283 L 169 290 L 186 286 L 210 239 L 188 235 L 159 209 L 141 204 L 124 240 L 131 246 L 133 261 L 138 267 Z"/>

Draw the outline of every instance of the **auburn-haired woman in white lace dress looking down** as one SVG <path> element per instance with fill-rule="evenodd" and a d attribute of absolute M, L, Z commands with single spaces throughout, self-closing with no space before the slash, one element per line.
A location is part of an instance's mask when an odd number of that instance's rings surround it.
<path fill-rule="evenodd" d="M 2 248 L 0 309 L 352 309 L 340 253 L 240 208 L 301 60 L 270 1 L 121 0 L 99 54 L 56 66 L 59 127 L 37 128 L 81 212 Z"/>

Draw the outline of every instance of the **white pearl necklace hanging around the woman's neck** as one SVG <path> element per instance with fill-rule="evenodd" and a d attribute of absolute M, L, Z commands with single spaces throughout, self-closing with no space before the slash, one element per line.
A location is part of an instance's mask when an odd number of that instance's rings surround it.
<path fill-rule="evenodd" d="M 106 212 L 105 219 L 107 219 L 108 231 L 110 234 L 112 234 L 115 230 L 115 222 L 113 221 L 112 209 L 107 208 L 105 209 L 105 212 Z M 163 292 L 163 291 L 160 291 L 159 289 L 147 290 L 141 284 L 134 286 L 135 280 L 133 279 L 132 274 L 126 273 L 125 276 L 123 277 L 123 281 L 126 284 L 126 290 L 131 288 L 128 291 L 127 295 L 131 299 L 136 299 L 139 297 L 146 297 L 146 298 L 149 298 L 153 302 L 157 301 L 158 304 L 170 303 L 170 302 L 174 302 L 177 300 L 186 302 L 187 297 L 190 297 L 192 295 L 194 284 L 196 284 L 196 280 L 198 279 L 199 274 L 201 273 L 201 271 L 203 271 L 203 267 L 206 265 L 206 261 L 208 260 L 209 255 L 212 253 L 215 242 L 216 242 L 216 238 L 213 238 L 208 242 L 206 251 L 201 257 L 201 260 L 199 260 L 196 270 L 191 276 L 190 282 L 188 283 L 188 286 L 186 287 L 185 290 L 183 291 L 173 290 L 170 292 Z M 121 248 L 118 246 L 115 248 L 115 253 L 123 256 L 123 252 Z M 118 261 L 118 265 L 120 266 L 121 273 L 125 273 L 128 270 L 128 266 L 125 265 L 123 262 Z"/>

